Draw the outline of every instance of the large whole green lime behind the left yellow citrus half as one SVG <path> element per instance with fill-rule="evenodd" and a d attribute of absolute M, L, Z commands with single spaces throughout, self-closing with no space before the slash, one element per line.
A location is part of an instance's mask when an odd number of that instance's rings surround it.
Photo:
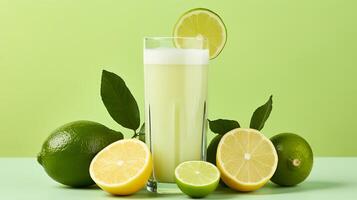
<path fill-rule="evenodd" d="M 109 144 L 123 139 L 102 124 L 75 121 L 54 130 L 42 145 L 37 161 L 55 181 L 71 187 L 94 182 L 89 175 L 93 157 Z"/>

